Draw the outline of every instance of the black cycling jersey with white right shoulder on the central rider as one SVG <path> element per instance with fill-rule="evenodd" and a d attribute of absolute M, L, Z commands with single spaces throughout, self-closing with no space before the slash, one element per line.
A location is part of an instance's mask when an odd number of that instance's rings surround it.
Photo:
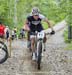
<path fill-rule="evenodd" d="M 41 14 L 39 15 L 39 18 L 37 20 L 35 20 L 34 17 L 31 15 L 28 16 L 27 20 L 29 22 L 29 27 L 30 27 L 31 32 L 42 31 L 43 27 L 42 27 L 41 21 L 44 19 L 45 19 L 45 17 Z"/>

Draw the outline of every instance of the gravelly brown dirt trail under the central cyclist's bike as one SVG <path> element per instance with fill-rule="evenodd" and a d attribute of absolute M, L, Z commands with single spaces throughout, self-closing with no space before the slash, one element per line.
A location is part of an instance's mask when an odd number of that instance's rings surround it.
<path fill-rule="evenodd" d="M 72 51 L 64 50 L 63 31 L 47 38 L 40 71 L 31 60 L 26 40 L 14 40 L 12 56 L 0 64 L 0 75 L 72 75 Z"/>

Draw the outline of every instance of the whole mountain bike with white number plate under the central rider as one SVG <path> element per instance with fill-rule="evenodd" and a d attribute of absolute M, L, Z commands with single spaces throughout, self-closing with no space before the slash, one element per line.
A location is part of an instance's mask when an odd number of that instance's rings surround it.
<path fill-rule="evenodd" d="M 51 33 L 47 33 L 45 34 L 44 31 L 41 32 L 37 32 L 35 31 L 35 33 L 33 33 L 35 35 L 35 49 L 36 49 L 36 62 L 37 62 L 37 68 L 40 69 L 40 65 L 41 65 L 41 59 L 42 59 L 42 51 L 45 50 L 44 48 L 44 37 L 45 35 L 48 34 L 54 34 L 54 31 L 52 31 Z"/>

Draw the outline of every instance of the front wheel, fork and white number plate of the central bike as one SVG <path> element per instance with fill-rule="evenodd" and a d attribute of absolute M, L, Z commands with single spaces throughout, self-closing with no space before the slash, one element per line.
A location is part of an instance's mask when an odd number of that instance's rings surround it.
<path fill-rule="evenodd" d="M 42 59 L 42 49 L 43 49 L 43 39 L 44 39 L 45 33 L 44 32 L 38 32 L 36 36 L 36 56 L 37 56 L 37 67 L 40 69 L 41 59 Z"/>

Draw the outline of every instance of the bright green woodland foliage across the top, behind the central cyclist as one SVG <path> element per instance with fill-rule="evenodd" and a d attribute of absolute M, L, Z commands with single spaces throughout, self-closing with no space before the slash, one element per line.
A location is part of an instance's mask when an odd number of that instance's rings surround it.
<path fill-rule="evenodd" d="M 40 13 L 44 14 L 54 24 L 66 17 L 69 17 L 68 20 L 70 21 L 71 16 L 68 13 L 71 14 L 71 12 L 67 12 L 70 7 L 67 6 L 66 0 L 0 0 L 0 21 L 11 28 L 14 26 L 21 28 L 34 6 L 39 7 Z M 15 23 L 15 16 L 17 17 L 17 24 Z"/>

